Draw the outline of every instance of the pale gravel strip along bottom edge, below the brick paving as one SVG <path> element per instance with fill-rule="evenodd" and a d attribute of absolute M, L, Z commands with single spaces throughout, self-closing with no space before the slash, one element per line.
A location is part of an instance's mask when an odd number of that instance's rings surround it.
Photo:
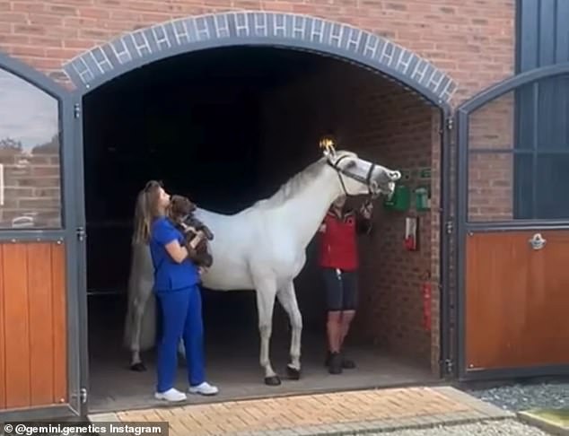
<path fill-rule="evenodd" d="M 360 433 L 363 436 L 362 433 Z M 512 419 L 457 425 L 439 425 L 429 429 L 367 433 L 367 436 L 551 436 L 536 427 Z"/>

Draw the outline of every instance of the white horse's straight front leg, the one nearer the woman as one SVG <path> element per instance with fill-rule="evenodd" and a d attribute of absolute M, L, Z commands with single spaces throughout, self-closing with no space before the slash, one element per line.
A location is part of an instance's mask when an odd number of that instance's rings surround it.
<path fill-rule="evenodd" d="M 265 369 L 265 384 L 278 386 L 281 379 L 276 375 L 268 357 L 269 344 L 273 329 L 273 310 L 275 309 L 276 283 L 274 280 L 255 280 L 257 296 L 258 331 L 261 339 L 259 363 Z"/>

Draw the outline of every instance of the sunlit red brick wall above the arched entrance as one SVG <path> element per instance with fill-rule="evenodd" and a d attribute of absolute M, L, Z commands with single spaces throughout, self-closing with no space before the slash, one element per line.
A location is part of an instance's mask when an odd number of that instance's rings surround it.
<path fill-rule="evenodd" d="M 122 32 L 192 14 L 307 13 L 372 31 L 451 74 L 463 100 L 512 74 L 514 0 L 0 0 L 0 50 L 64 80 L 61 65 Z"/>

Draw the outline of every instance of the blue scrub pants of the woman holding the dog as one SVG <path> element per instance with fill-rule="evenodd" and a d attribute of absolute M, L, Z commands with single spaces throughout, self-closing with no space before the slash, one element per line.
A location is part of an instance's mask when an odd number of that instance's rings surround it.
<path fill-rule="evenodd" d="M 158 344 L 158 392 L 174 387 L 179 339 L 184 339 L 190 386 L 205 379 L 204 325 L 198 285 L 179 291 L 156 292 L 162 308 L 162 337 Z"/>

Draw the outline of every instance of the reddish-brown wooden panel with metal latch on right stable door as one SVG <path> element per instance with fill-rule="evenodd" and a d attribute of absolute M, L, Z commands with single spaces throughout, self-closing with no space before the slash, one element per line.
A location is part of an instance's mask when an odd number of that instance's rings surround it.
<path fill-rule="evenodd" d="M 569 363 L 569 231 L 473 233 L 466 240 L 468 370 Z"/>

